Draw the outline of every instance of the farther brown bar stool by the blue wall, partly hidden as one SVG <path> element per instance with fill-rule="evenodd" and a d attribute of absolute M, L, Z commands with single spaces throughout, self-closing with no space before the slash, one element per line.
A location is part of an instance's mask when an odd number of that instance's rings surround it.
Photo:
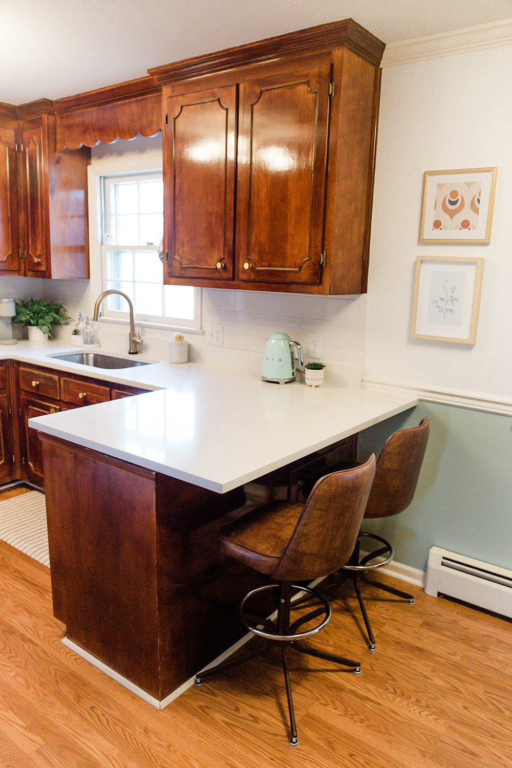
<path fill-rule="evenodd" d="M 411 504 L 415 495 L 416 485 L 418 485 L 429 432 L 430 425 L 425 416 L 417 427 L 400 429 L 388 437 L 377 460 L 375 480 L 372 485 L 372 492 L 368 498 L 365 520 L 398 515 L 399 512 L 403 512 Z M 361 558 L 360 550 L 363 539 L 365 545 L 367 541 L 373 540 L 378 542 L 380 546 Z M 390 563 L 394 556 L 393 548 L 385 538 L 372 533 L 361 532 L 351 558 L 342 567 L 342 570 L 352 571 L 355 594 L 357 594 L 362 617 L 365 620 L 371 651 L 375 650 L 375 637 L 359 589 L 358 578 L 390 594 L 395 594 L 398 598 L 403 598 L 410 604 L 414 603 L 414 598 L 408 592 L 401 591 L 395 587 L 389 587 L 387 584 L 381 584 L 378 581 L 372 581 L 372 579 L 368 579 L 365 576 L 366 571 L 375 571 L 376 568 L 382 568 Z"/>

